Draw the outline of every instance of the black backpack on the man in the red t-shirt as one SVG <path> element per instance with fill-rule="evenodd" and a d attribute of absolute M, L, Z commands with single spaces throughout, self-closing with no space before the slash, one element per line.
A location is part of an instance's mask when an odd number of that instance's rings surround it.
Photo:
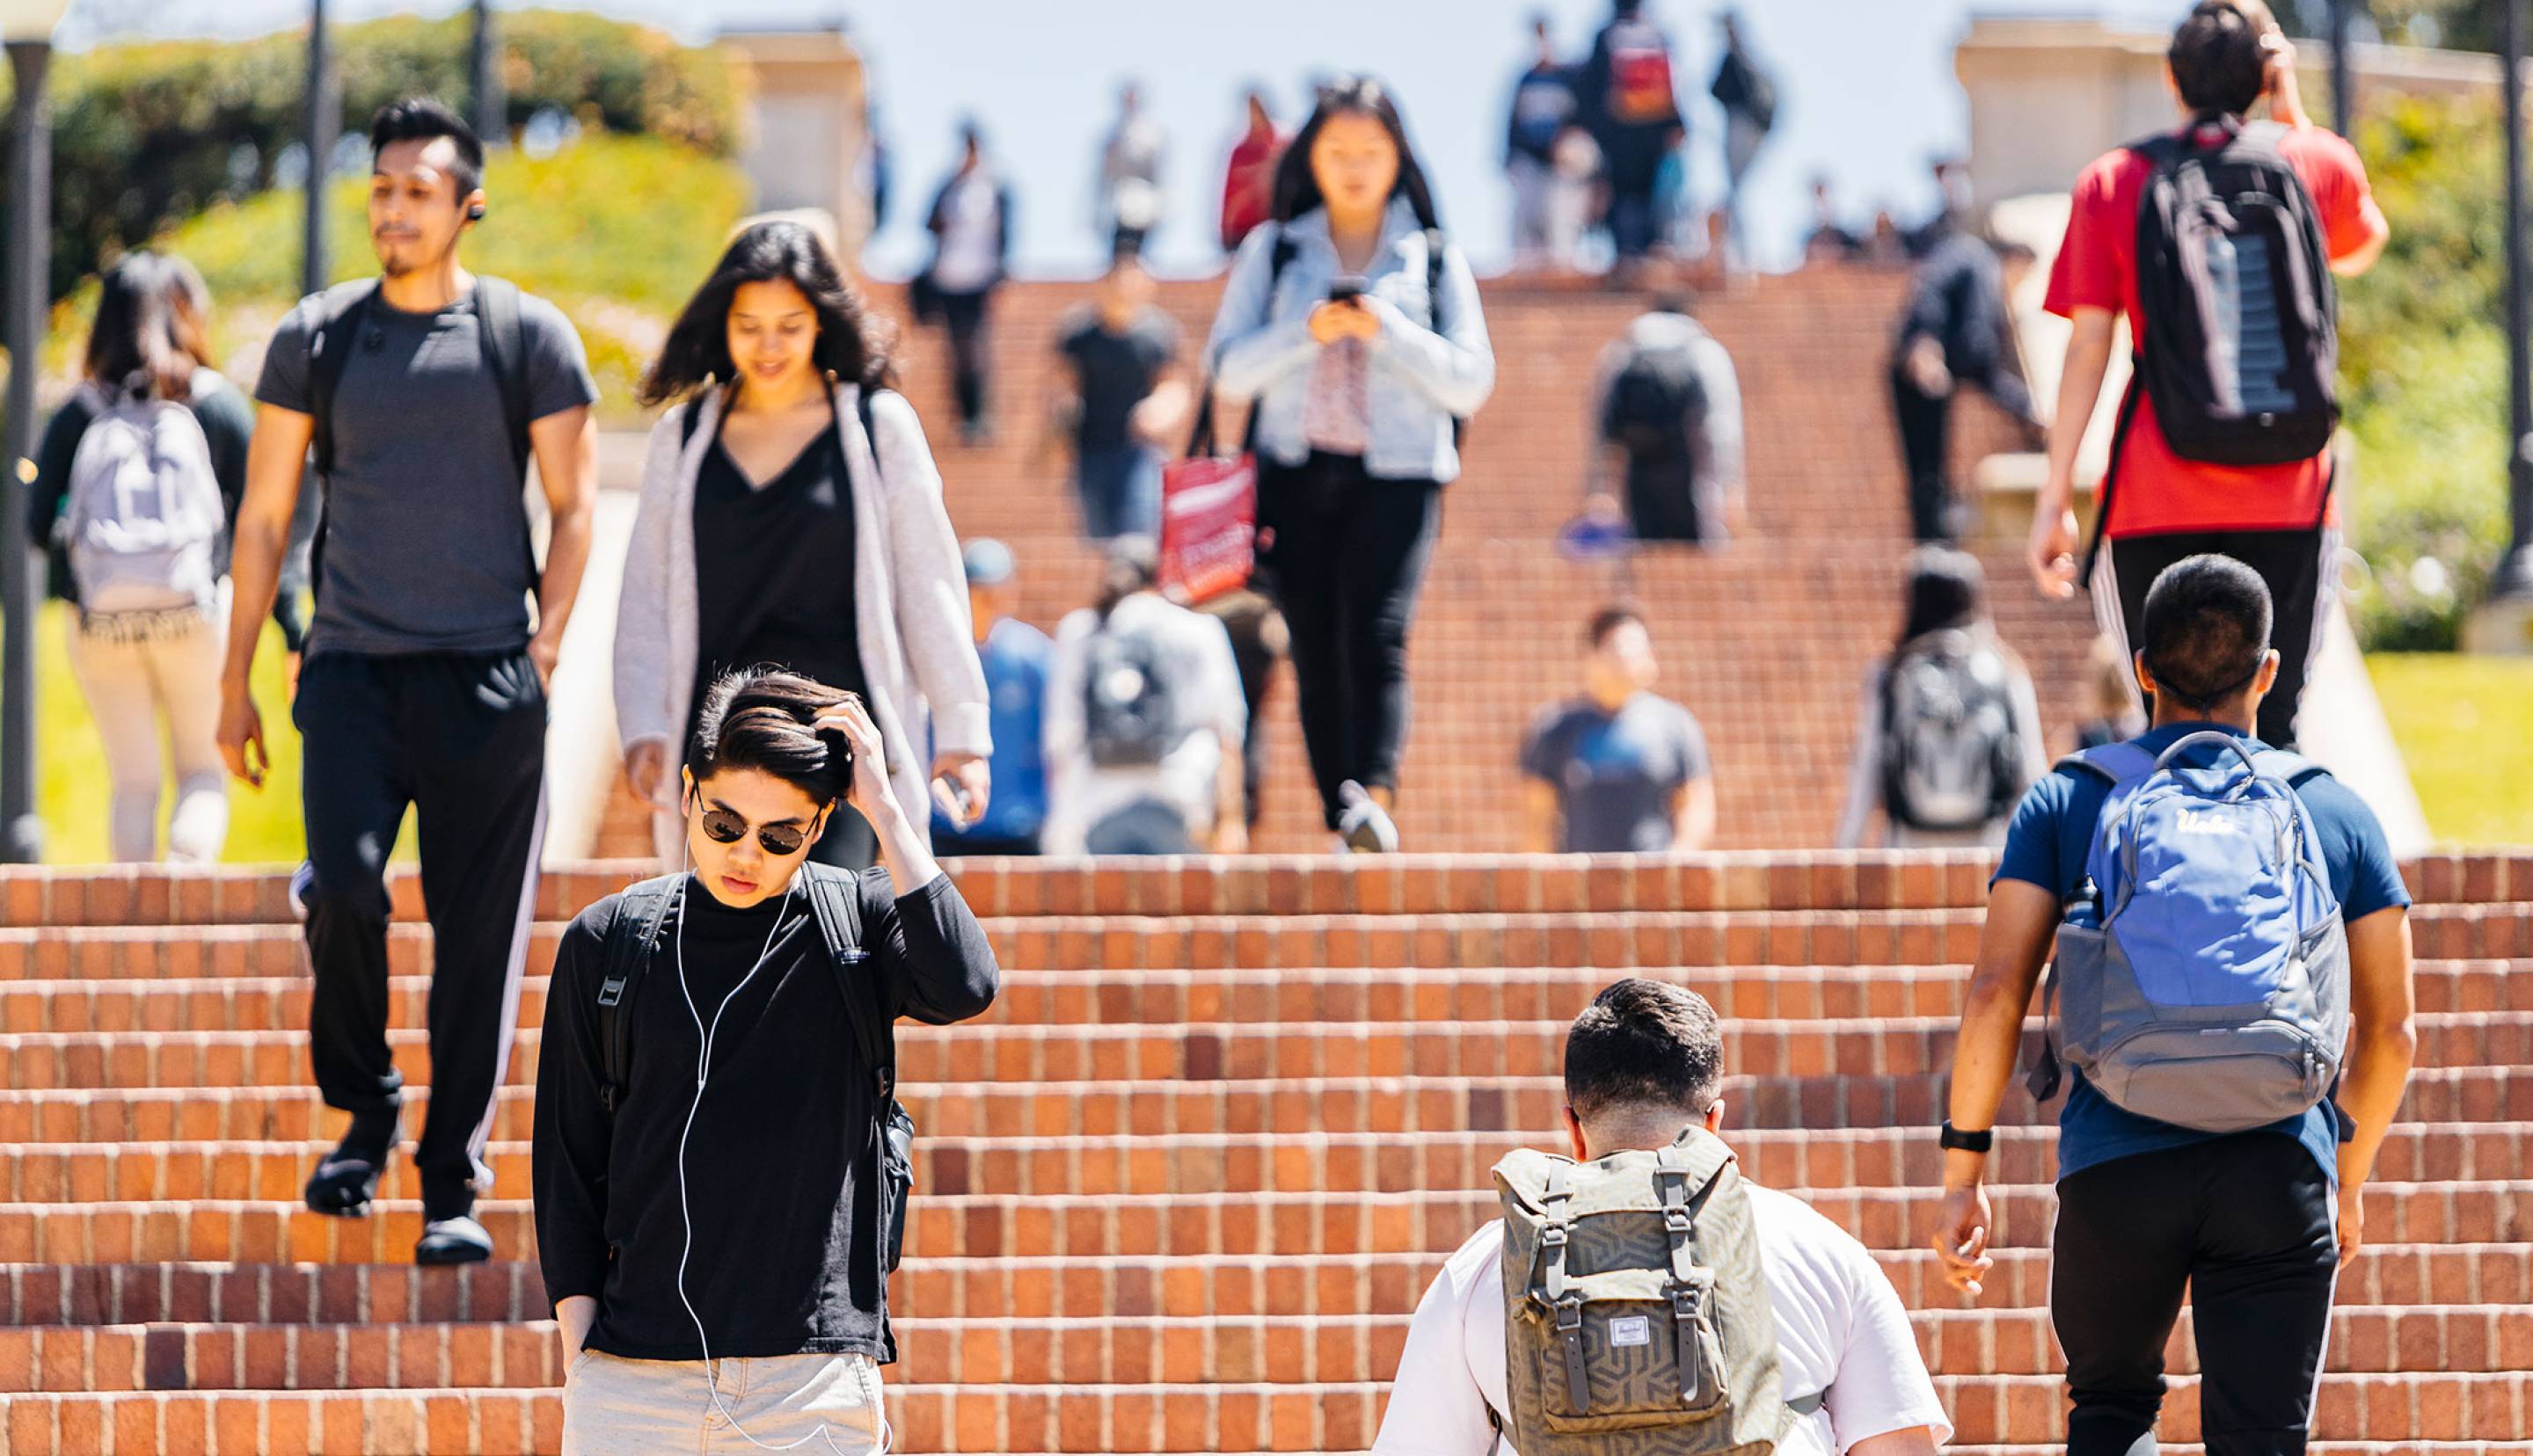
<path fill-rule="evenodd" d="M 2340 423 L 2338 291 L 2313 195 L 2275 122 L 2151 137 L 2138 200 L 2138 380 L 2186 461 L 2310 461 Z"/>

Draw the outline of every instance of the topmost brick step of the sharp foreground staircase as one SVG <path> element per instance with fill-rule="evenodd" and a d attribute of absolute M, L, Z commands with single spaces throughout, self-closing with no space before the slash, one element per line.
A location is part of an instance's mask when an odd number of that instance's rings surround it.
<path fill-rule="evenodd" d="M 960 894 L 1006 914 L 1436 914 L 1560 909 L 1976 909 L 1991 853 L 1816 851 L 1705 856 L 1191 856 L 1109 861 L 947 861 Z M 2449 851 L 2401 861 L 2411 894 L 2434 904 L 2533 899 L 2533 851 Z M 537 884 L 537 919 L 656 874 L 633 861 L 578 861 Z M 400 919 L 420 919 L 420 879 L 398 866 Z M 0 866 L 0 927 L 296 927 L 289 866 Z M 10 945 L 0 929 L 0 975 Z M 81 937 L 71 937 L 73 942 Z M 81 970 L 81 975 L 89 975 Z"/>

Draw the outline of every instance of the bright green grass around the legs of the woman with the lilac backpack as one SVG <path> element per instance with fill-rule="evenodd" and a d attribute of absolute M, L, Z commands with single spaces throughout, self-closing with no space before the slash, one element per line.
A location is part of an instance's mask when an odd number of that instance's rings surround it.
<path fill-rule="evenodd" d="M 106 752 L 79 696 L 68 658 L 68 608 L 46 603 L 35 631 L 35 810 L 43 815 L 48 863 L 101 863 L 106 853 Z M 299 729 L 291 727 L 284 681 L 281 628 L 266 623 L 256 653 L 256 704 L 274 767 L 263 788 L 228 785 L 228 863 L 296 863 L 306 838 L 299 828 Z M 175 788 L 160 795 L 160 833 Z M 410 858 L 413 836 L 403 836 Z"/>

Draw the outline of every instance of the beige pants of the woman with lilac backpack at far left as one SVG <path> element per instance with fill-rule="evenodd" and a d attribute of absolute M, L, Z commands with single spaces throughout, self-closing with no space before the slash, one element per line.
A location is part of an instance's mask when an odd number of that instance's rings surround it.
<path fill-rule="evenodd" d="M 114 782 L 109 843 L 117 861 L 157 858 L 157 805 L 175 770 L 167 858 L 213 863 L 228 841 L 228 772 L 220 767 L 220 651 L 225 610 L 162 613 L 147 631 L 96 631 L 71 613 L 71 676 L 89 699 Z M 160 762 L 160 717 L 167 762 Z"/>

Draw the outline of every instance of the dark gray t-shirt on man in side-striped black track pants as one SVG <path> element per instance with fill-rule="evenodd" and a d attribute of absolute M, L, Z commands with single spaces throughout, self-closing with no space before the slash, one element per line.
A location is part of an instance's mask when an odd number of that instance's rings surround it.
<path fill-rule="evenodd" d="M 256 400 L 312 413 L 309 299 L 281 319 Z M 580 334 L 519 299 L 527 418 L 598 400 Z M 324 577 L 309 653 L 502 653 L 527 646 L 537 560 L 527 499 L 484 362 L 474 294 L 436 314 L 370 299 L 334 390 Z"/>

